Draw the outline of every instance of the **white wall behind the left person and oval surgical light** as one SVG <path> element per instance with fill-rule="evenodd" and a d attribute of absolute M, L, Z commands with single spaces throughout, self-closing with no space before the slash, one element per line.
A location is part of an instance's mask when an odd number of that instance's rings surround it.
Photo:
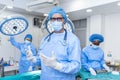
<path fill-rule="evenodd" d="M 9 15 L 14 15 L 18 13 L 15 12 L 3 12 L 1 13 L 1 19 L 4 16 L 9 16 Z M 21 15 L 21 14 L 20 14 Z M 28 29 L 23 32 L 22 34 L 16 35 L 15 39 L 18 42 L 23 42 L 24 41 L 24 37 L 26 34 L 30 33 L 33 36 L 33 44 L 35 45 L 35 47 L 38 49 L 39 47 L 39 43 L 41 41 L 41 38 L 43 37 L 43 32 L 41 31 L 40 28 L 33 26 L 33 18 L 34 16 L 32 15 L 25 15 L 22 14 L 29 22 L 29 26 Z M 3 35 L 2 33 L 0 33 L 0 38 L 1 38 L 1 42 L 0 42 L 0 59 L 1 57 L 3 57 L 5 60 L 8 60 L 9 57 L 15 57 L 16 60 L 19 60 L 19 56 L 20 56 L 20 52 L 17 48 L 13 47 L 9 40 L 9 36 Z"/>

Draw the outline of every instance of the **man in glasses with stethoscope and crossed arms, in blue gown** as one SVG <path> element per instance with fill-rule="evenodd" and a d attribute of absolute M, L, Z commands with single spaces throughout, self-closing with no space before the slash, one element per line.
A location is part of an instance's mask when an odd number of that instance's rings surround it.
<path fill-rule="evenodd" d="M 72 32 L 64 29 L 67 16 L 61 7 L 54 7 L 48 20 L 54 31 L 40 44 L 40 80 L 75 80 L 75 73 L 81 68 L 80 41 Z M 66 33 L 67 39 L 64 40 Z"/>

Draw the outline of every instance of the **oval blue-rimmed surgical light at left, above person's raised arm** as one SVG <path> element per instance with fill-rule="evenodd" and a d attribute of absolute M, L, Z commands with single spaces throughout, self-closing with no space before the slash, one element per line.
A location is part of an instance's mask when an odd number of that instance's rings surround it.
<path fill-rule="evenodd" d="M 14 36 L 24 32 L 28 28 L 28 21 L 24 17 L 9 17 L 2 21 L 0 31 L 4 35 Z"/>

